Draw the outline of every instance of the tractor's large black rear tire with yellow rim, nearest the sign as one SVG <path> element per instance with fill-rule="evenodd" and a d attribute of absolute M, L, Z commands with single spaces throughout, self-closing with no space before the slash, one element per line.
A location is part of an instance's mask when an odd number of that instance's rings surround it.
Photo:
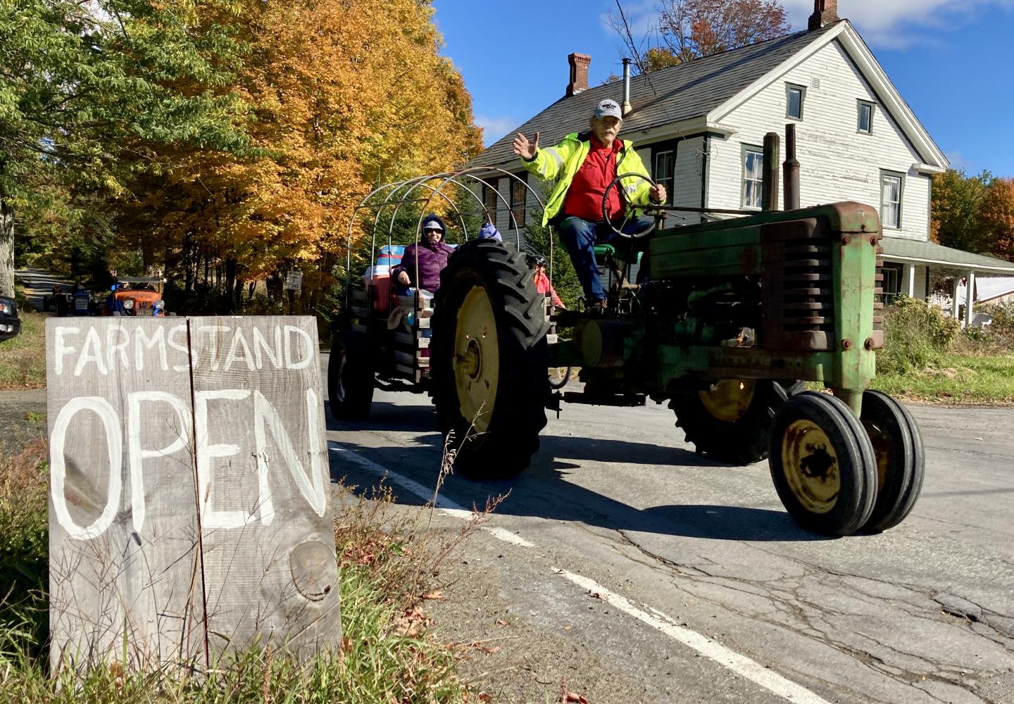
<path fill-rule="evenodd" d="M 454 469 L 507 479 L 528 467 L 546 426 L 545 300 L 524 257 L 493 239 L 458 248 L 440 273 L 430 365 Z"/>

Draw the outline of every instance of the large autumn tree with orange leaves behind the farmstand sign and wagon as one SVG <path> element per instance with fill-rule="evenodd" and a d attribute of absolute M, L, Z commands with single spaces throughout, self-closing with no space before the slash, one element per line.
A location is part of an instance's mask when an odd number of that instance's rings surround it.
<path fill-rule="evenodd" d="M 303 271 L 306 301 L 344 260 L 348 223 L 378 185 L 482 151 L 470 96 L 440 57 L 419 0 L 244 0 L 248 47 L 235 90 L 254 154 L 167 155 L 121 224 L 165 259 L 191 299 L 232 309 L 242 285 Z M 201 17 L 201 21 L 216 21 Z M 209 296 L 209 291 L 211 295 Z M 197 304 L 200 301 L 195 301 Z"/>

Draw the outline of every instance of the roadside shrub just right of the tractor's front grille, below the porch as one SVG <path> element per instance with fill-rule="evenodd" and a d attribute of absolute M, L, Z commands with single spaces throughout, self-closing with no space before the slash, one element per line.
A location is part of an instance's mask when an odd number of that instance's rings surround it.
<path fill-rule="evenodd" d="M 877 373 L 909 374 L 940 363 L 961 325 L 919 298 L 898 296 L 884 309 L 884 348 Z"/>

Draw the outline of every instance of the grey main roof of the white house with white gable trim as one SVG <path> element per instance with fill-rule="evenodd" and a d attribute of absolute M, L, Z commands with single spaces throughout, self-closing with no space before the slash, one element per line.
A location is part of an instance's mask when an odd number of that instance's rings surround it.
<path fill-rule="evenodd" d="M 720 120 L 836 39 L 926 161 L 922 165 L 931 171 L 943 170 L 946 157 L 847 19 L 632 77 L 632 111 L 624 118 L 624 136 L 665 126 L 672 126 L 674 135 L 726 131 Z M 518 132 L 529 137 L 538 132 L 539 143 L 550 145 L 570 132 L 585 130 L 598 101 L 605 97 L 622 101 L 623 90 L 623 81 L 613 81 L 564 96 L 494 142 L 467 165 L 503 166 L 516 161 L 511 142 Z"/>

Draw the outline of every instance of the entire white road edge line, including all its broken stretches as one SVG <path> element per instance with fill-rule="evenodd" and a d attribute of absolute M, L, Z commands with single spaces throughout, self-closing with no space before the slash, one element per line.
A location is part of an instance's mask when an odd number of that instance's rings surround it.
<path fill-rule="evenodd" d="M 391 472 L 383 465 L 378 465 L 372 460 L 367 460 L 363 455 L 350 450 L 346 447 L 342 447 L 335 442 L 329 442 L 330 448 L 334 452 L 340 452 L 342 460 L 351 462 L 354 465 L 358 465 L 367 472 L 372 474 L 386 476 L 392 484 L 406 489 L 407 491 L 415 494 L 417 497 L 423 501 L 430 501 L 433 499 L 433 491 L 426 488 L 419 482 L 416 482 L 408 477 L 403 477 L 396 472 Z M 463 520 L 470 520 L 473 512 L 466 508 L 462 508 L 458 504 L 454 503 L 450 499 L 445 499 L 441 496 L 437 496 L 436 507 L 440 509 L 444 514 L 455 516 Z M 482 530 L 489 533 L 494 538 L 511 543 L 513 545 L 518 545 L 523 548 L 534 547 L 531 543 L 524 540 L 523 538 L 505 531 L 500 527 L 489 527 L 486 525 L 480 526 Z M 665 635 L 669 636 L 673 640 L 676 640 L 693 650 L 697 650 L 705 657 L 717 662 L 723 667 L 727 667 L 732 672 L 736 673 L 742 678 L 749 680 L 752 683 L 764 687 L 769 692 L 778 695 L 784 699 L 787 699 L 796 704 L 830 704 L 827 700 L 821 699 L 817 695 L 810 692 L 808 689 L 797 685 L 796 683 L 788 680 L 778 673 L 765 667 L 763 664 L 751 660 L 745 655 L 740 655 L 737 652 L 733 652 L 729 648 L 725 647 L 721 643 L 717 643 L 714 640 L 710 640 L 706 636 L 701 635 L 697 631 L 691 630 L 690 628 L 684 628 L 682 626 L 677 626 L 676 622 L 663 614 L 662 612 L 652 609 L 652 611 L 657 616 L 652 616 L 646 611 L 638 609 L 626 597 L 620 594 L 609 591 L 607 588 L 596 582 L 594 579 L 589 579 L 588 577 L 582 577 L 580 574 L 574 574 L 573 572 L 568 572 L 565 569 L 554 569 L 557 574 L 563 575 L 565 578 L 577 584 L 582 589 L 586 589 L 590 592 L 600 594 L 605 597 L 609 604 L 614 606 L 617 609 L 633 616 L 638 621 L 641 621 L 652 628 L 655 628 Z"/>

